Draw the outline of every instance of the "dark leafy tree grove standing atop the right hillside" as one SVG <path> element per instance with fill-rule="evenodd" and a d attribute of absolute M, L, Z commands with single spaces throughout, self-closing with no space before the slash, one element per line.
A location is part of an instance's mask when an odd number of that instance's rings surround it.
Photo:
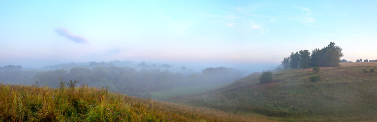
<path fill-rule="evenodd" d="M 309 68 L 309 67 L 338 67 L 340 57 L 343 56 L 342 49 L 330 42 L 322 49 L 300 50 L 291 53 L 289 57 L 284 57 L 281 62 L 283 69 L 288 68 Z"/>

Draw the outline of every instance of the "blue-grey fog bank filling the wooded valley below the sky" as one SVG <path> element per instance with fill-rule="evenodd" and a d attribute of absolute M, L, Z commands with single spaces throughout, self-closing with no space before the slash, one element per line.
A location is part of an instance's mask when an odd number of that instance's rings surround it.
<path fill-rule="evenodd" d="M 227 85 L 253 72 L 273 70 L 274 64 L 111 62 L 63 63 L 41 68 L 8 65 L 0 69 L 0 81 L 57 87 L 58 81 L 108 87 L 112 92 L 148 98 L 150 92 L 196 85 Z"/>

